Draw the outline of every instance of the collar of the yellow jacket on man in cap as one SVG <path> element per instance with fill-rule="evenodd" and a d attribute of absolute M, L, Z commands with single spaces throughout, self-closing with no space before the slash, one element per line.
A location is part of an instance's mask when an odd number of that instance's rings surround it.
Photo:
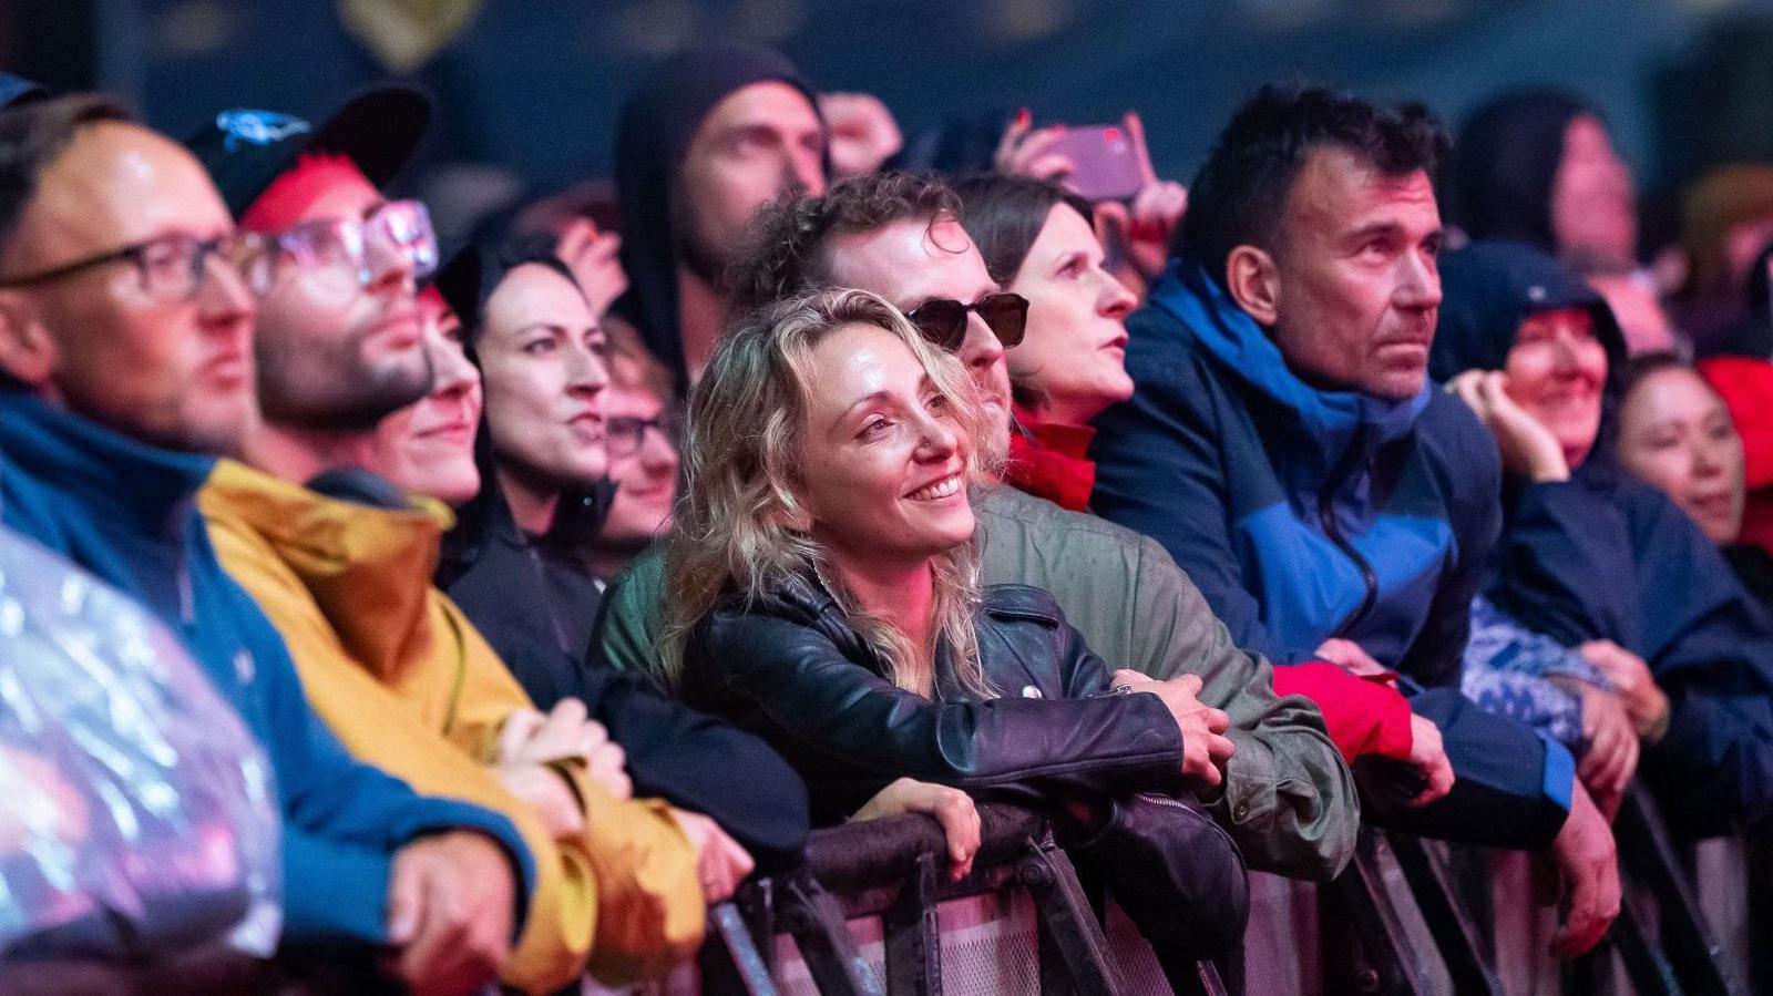
<path fill-rule="evenodd" d="M 431 571 L 450 523 L 441 505 L 340 502 L 232 461 L 216 466 L 202 503 L 215 523 L 257 533 L 378 679 L 431 656 Z"/>

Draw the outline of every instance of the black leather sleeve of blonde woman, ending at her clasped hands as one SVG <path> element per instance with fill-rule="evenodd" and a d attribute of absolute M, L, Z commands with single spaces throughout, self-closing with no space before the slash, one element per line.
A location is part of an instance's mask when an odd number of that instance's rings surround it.
<path fill-rule="evenodd" d="M 842 806 L 839 815 L 901 776 L 1039 796 L 1181 789 L 1181 732 L 1151 695 L 1058 700 L 1058 689 L 1032 698 L 1000 688 L 1005 696 L 989 702 L 929 700 L 851 659 L 816 626 L 734 610 L 702 622 L 686 663 L 691 705 L 769 741 L 807 778 L 816 806 Z"/>

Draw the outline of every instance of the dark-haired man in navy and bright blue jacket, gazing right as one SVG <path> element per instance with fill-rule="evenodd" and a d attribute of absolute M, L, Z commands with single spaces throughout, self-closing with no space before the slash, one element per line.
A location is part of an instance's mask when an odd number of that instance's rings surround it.
<path fill-rule="evenodd" d="M 1553 844 L 1574 952 L 1619 906 L 1606 821 L 1562 746 L 1457 693 L 1500 464 L 1427 383 L 1443 149 L 1420 108 L 1321 89 L 1238 110 L 1128 321 L 1136 393 L 1097 420 L 1092 505 L 1163 544 L 1239 645 L 1425 689 L 1411 705 L 1443 727 L 1454 776 L 1486 789 L 1468 824 Z"/>

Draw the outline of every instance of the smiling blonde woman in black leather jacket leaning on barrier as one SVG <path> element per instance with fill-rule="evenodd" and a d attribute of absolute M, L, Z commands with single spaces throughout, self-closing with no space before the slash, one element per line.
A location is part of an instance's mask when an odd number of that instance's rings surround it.
<path fill-rule="evenodd" d="M 730 328 L 690 402 L 665 675 L 773 743 L 819 822 L 895 778 L 1046 812 L 1186 973 L 1243 934 L 1243 860 L 1190 792 L 1229 718 L 1199 677 L 1110 675 L 1046 592 L 979 587 L 970 385 L 862 291 Z"/>

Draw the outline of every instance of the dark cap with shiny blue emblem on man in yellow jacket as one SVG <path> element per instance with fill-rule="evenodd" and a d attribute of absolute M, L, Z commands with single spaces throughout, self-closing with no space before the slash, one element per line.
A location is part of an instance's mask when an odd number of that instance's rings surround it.
<path fill-rule="evenodd" d="M 303 152 L 344 156 L 369 183 L 387 186 L 418 149 L 431 106 L 424 90 L 390 83 L 353 97 L 317 126 L 271 110 L 232 108 L 186 138 L 184 147 L 239 218 Z"/>

